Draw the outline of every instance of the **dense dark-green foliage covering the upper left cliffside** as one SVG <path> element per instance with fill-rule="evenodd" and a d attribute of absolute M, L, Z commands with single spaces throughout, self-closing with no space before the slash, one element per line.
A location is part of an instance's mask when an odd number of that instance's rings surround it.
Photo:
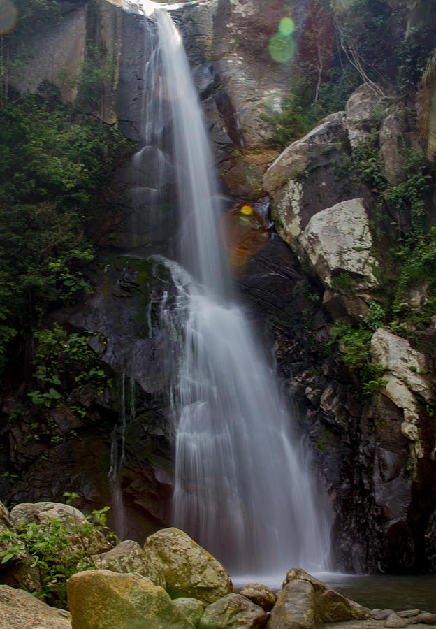
<path fill-rule="evenodd" d="M 111 207 L 129 143 L 53 99 L 0 108 L 0 367 L 10 340 L 54 303 L 89 291 L 87 224 Z"/>

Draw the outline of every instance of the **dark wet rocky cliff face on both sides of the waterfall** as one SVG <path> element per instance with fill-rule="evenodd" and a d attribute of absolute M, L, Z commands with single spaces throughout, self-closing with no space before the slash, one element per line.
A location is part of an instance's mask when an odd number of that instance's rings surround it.
<path fill-rule="evenodd" d="M 422 184 L 423 207 L 433 222 L 433 167 L 413 161 L 419 147 L 413 113 L 370 82 L 354 91 L 345 110 L 319 121 L 283 152 L 263 144 L 268 133 L 259 113 L 279 109 L 292 71 L 273 59 L 270 41 L 282 17 L 292 15 L 301 31 L 309 19 L 305 6 L 214 0 L 177 8 L 173 15 L 228 195 L 223 221 L 230 226 L 226 246 L 235 280 L 254 306 L 284 387 L 298 405 L 314 472 L 333 505 L 336 567 L 434 569 L 433 287 L 412 275 L 398 290 L 393 287 L 407 269 L 392 251 L 404 240 L 395 240 L 395 233 L 413 228 L 405 210 L 407 190 Z M 102 98 L 103 120 L 116 121 L 126 136 L 140 141 L 148 27 L 140 15 L 105 0 L 65 3 L 61 25 L 36 36 L 36 55 L 18 87 L 36 89 L 42 78 L 58 81 L 65 66 L 74 73 L 92 34 L 115 63 Z M 52 45 L 60 53 L 46 63 Z M 147 173 L 153 163 L 150 155 Z M 68 331 L 86 331 L 112 389 L 103 387 L 100 396 L 88 391 L 88 397 L 80 391 L 74 404 L 50 410 L 61 443 L 34 443 L 34 411 L 3 428 L 3 469 L 21 477 L 13 484 L 3 479 L 2 498 L 59 499 L 71 489 L 84 496 L 83 506 L 104 503 L 110 498 L 110 435 L 113 444 L 113 435 L 117 442 L 122 431 L 122 394 L 115 382 L 121 389 L 132 382 L 135 409 L 125 424 L 121 487 L 133 537 L 169 517 L 167 418 L 179 348 L 161 327 L 161 312 L 173 288 L 158 263 L 126 257 L 170 254 L 173 248 L 173 172 L 167 166 L 161 181 L 166 214 L 156 223 L 136 218 L 143 201 L 136 200 L 133 166 L 119 172 L 124 196 L 118 225 L 106 226 L 94 293 L 54 314 Z M 254 211 L 236 231 L 232 217 L 239 220 L 247 203 Z M 433 241 L 422 238 L 420 255 L 430 265 Z M 172 357 L 169 364 L 166 356 Z M 3 416 L 12 416 L 17 399 L 19 391 L 3 403 Z M 85 417 L 74 406 L 85 409 Z"/>

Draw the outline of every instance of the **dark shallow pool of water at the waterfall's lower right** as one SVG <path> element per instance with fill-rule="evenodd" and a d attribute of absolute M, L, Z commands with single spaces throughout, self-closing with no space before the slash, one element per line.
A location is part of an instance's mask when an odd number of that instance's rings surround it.
<path fill-rule="evenodd" d="M 423 577 L 324 574 L 317 575 L 331 588 L 373 609 L 425 609 L 436 613 L 436 574 Z"/>

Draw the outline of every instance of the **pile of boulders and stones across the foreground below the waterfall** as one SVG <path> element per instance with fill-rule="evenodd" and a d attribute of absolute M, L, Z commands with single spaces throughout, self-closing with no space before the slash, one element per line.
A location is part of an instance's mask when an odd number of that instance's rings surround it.
<path fill-rule="evenodd" d="M 208 551 L 177 528 L 150 535 L 143 547 L 124 540 L 112 546 L 78 509 L 60 503 L 27 503 L 11 512 L 1 505 L 0 627 L 3 629 L 317 629 L 436 626 L 421 609 L 367 609 L 295 567 L 282 589 L 251 583 L 235 591 L 231 577 Z M 26 544 L 10 537 L 65 527 L 68 548 L 88 570 L 66 581 L 69 612 L 41 597 L 41 570 Z M 85 528 L 84 528 L 85 527 Z M 23 528 L 21 528 L 21 531 Z M 85 531 L 85 533 L 84 533 Z M 36 565 L 35 565 L 36 564 Z M 83 565 L 83 564 L 82 564 Z M 39 577 L 39 578 L 38 578 Z M 50 579 L 45 579 L 50 588 Z M 23 587 L 25 589 L 23 589 Z M 27 591 L 26 591 L 27 590 Z M 34 595 L 36 596 L 34 596 Z"/>

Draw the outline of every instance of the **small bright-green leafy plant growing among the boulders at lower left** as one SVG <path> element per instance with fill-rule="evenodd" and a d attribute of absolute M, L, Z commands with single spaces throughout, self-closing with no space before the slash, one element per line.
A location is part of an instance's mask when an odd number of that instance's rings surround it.
<path fill-rule="evenodd" d="M 41 588 L 38 595 L 49 605 L 66 607 L 66 579 L 80 570 L 96 568 L 92 560 L 92 536 L 98 531 L 108 531 L 108 509 L 94 510 L 83 521 L 71 516 L 66 524 L 53 519 L 43 524 L 17 524 L 4 530 L 0 535 L 1 563 L 22 561 L 24 556 L 30 556 Z M 116 541 L 116 536 L 112 533 L 108 539 Z"/>

